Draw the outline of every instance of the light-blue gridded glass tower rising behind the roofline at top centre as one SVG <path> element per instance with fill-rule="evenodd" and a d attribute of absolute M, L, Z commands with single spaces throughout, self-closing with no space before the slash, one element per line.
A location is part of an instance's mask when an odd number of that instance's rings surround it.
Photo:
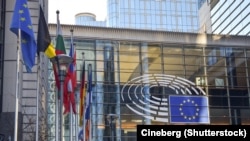
<path fill-rule="evenodd" d="M 108 0 L 107 26 L 197 32 L 197 0 Z"/>

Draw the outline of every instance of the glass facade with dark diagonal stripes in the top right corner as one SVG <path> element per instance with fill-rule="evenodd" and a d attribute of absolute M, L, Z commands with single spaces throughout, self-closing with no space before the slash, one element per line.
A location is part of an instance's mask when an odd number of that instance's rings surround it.
<path fill-rule="evenodd" d="M 219 0 L 211 9 L 213 34 L 250 35 L 250 1 Z"/>

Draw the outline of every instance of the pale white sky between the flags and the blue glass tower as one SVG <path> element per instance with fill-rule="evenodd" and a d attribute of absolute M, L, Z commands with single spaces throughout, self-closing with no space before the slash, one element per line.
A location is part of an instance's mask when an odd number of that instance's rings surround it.
<path fill-rule="evenodd" d="M 48 23 L 56 23 L 56 11 L 59 10 L 60 24 L 74 24 L 75 15 L 89 12 L 96 15 L 97 21 L 106 18 L 106 0 L 48 0 Z"/>

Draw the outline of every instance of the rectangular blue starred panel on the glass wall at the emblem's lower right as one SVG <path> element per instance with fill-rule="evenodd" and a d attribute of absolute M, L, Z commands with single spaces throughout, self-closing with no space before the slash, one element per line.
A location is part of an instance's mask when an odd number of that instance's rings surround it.
<path fill-rule="evenodd" d="M 170 122 L 209 123 L 206 96 L 170 95 Z"/>

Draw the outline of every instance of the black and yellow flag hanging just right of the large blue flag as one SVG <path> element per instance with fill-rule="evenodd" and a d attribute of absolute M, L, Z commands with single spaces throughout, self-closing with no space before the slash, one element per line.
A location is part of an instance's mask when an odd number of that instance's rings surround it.
<path fill-rule="evenodd" d="M 49 34 L 49 29 L 47 22 L 44 17 L 42 7 L 40 6 L 39 23 L 38 23 L 38 33 L 37 33 L 37 54 L 39 56 L 40 52 L 48 58 L 56 56 L 55 47 L 53 46 Z"/>

